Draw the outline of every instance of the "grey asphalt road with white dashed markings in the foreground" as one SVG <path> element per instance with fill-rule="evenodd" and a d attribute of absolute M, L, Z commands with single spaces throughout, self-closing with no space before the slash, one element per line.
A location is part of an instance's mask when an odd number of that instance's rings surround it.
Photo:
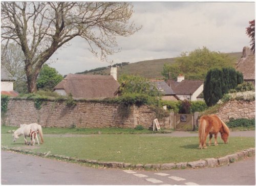
<path fill-rule="evenodd" d="M 97 169 L 2 151 L 2 184 L 255 185 L 255 157 L 217 168 L 168 171 Z"/>

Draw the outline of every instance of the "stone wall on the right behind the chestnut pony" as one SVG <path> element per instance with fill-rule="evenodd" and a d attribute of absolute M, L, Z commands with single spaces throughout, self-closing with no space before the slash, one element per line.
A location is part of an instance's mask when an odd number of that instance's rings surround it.
<path fill-rule="evenodd" d="M 225 103 L 216 113 L 224 121 L 228 122 L 230 118 L 254 119 L 255 118 L 255 100 L 230 100 Z"/>

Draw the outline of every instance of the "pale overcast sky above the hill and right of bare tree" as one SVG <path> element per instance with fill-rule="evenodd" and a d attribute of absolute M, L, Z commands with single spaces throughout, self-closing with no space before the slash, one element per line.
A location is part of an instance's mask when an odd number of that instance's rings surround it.
<path fill-rule="evenodd" d="M 138 62 L 178 57 L 207 47 L 224 53 L 242 52 L 249 46 L 245 33 L 255 18 L 255 3 L 239 2 L 133 2 L 134 20 L 142 29 L 130 37 L 118 37 L 121 52 L 109 61 Z M 83 72 L 110 63 L 100 61 L 88 51 L 87 42 L 74 38 L 68 47 L 58 49 L 50 66 L 66 75 Z"/>

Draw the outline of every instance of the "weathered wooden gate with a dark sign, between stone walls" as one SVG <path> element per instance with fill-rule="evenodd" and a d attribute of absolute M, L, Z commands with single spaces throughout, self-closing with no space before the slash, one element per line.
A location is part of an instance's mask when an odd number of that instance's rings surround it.
<path fill-rule="evenodd" d="M 193 131 L 194 114 L 174 114 L 174 130 Z"/>

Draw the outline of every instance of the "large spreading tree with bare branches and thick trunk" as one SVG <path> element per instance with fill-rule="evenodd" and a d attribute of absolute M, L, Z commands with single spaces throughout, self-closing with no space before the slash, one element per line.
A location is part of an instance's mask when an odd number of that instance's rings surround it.
<path fill-rule="evenodd" d="M 2 43 L 15 41 L 25 56 L 29 92 L 36 91 L 42 64 L 76 36 L 86 39 L 101 60 L 113 54 L 116 36 L 130 36 L 131 3 L 114 2 L 2 2 Z M 99 52 L 97 52 L 99 50 Z"/>

